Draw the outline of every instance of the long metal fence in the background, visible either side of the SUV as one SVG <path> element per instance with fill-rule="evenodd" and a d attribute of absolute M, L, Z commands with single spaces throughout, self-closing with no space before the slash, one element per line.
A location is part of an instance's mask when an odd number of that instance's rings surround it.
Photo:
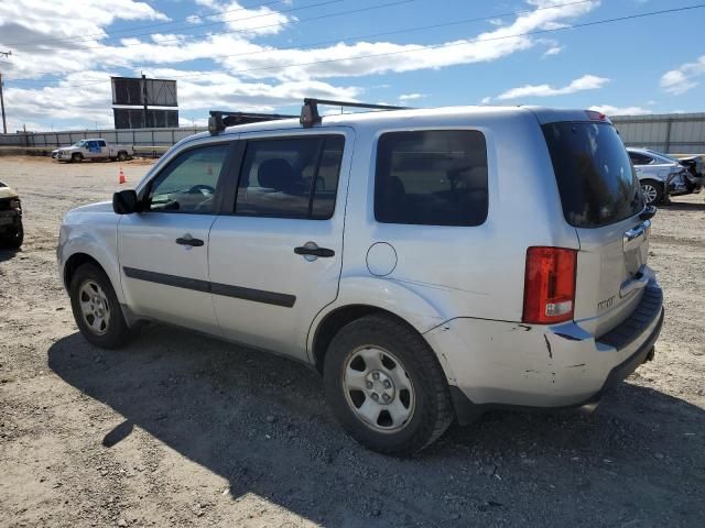
<path fill-rule="evenodd" d="M 627 146 L 644 146 L 654 151 L 704 154 L 705 112 L 652 116 L 615 116 L 612 122 Z M 87 138 L 104 138 L 109 143 L 133 145 L 138 150 L 166 147 L 187 135 L 203 132 L 202 127 L 176 129 L 73 130 L 0 134 L 0 145 L 56 148 Z M 140 148 L 141 147 L 141 148 Z M 158 148 L 159 150 L 159 148 Z M 163 150 L 163 148 L 161 148 Z"/>

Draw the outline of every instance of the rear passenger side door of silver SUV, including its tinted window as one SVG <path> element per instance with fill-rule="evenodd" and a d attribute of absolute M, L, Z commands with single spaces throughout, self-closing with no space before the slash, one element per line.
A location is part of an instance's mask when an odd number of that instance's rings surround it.
<path fill-rule="evenodd" d="M 227 338 L 305 359 L 311 322 L 337 296 L 352 140 L 340 129 L 241 141 L 235 204 L 210 230 Z"/>

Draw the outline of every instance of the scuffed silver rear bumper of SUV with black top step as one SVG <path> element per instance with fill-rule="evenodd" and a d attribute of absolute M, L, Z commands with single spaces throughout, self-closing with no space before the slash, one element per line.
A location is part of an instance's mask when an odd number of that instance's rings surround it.
<path fill-rule="evenodd" d="M 631 316 L 598 339 L 575 322 L 541 327 L 477 319 L 454 319 L 425 337 L 463 418 L 497 407 L 594 403 L 650 358 L 662 324 L 663 294 L 652 279 Z"/>

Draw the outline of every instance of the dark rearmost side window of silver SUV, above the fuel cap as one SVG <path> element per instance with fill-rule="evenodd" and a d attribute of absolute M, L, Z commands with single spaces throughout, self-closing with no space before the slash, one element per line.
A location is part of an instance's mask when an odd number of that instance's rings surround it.
<path fill-rule="evenodd" d="M 389 132 L 377 147 L 375 218 L 479 226 L 487 219 L 487 145 L 475 130 Z"/>

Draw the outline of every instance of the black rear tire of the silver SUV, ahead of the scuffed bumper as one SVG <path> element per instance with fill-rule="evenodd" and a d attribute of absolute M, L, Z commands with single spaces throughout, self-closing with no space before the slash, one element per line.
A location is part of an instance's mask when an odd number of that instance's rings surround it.
<path fill-rule="evenodd" d="M 399 430 L 376 430 L 352 410 L 352 392 L 347 391 L 346 395 L 343 377 L 350 358 L 359 351 L 375 349 L 393 354 L 413 387 L 414 410 Z M 336 418 L 348 433 L 380 453 L 419 452 L 437 440 L 455 416 L 445 374 L 429 344 L 414 329 L 387 315 L 362 317 L 338 331 L 326 352 L 324 386 Z M 401 402 L 402 393 L 398 394 Z"/>

